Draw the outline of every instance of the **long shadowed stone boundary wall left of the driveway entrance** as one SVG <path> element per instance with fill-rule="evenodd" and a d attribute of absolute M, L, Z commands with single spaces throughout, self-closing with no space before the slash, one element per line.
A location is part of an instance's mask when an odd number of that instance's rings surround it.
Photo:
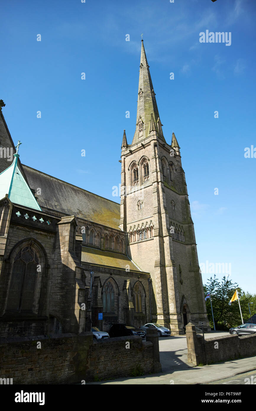
<path fill-rule="evenodd" d="M 93 341 L 91 332 L 0 339 L 0 377 L 13 384 L 86 383 L 150 372 L 161 372 L 155 330 L 146 342 L 135 335 Z"/>

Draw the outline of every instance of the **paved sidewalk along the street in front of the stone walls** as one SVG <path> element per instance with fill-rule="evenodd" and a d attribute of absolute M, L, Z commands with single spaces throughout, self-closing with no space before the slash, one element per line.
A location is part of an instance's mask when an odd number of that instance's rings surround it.
<path fill-rule="evenodd" d="M 203 384 L 228 378 L 256 369 L 256 357 L 240 358 L 203 367 L 189 367 L 171 374 L 152 374 L 136 378 L 118 378 L 110 381 L 88 382 L 86 384 Z"/>

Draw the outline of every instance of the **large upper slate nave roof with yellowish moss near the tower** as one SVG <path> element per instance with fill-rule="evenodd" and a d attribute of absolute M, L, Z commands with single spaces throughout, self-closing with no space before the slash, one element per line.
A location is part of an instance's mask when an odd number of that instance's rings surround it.
<path fill-rule="evenodd" d="M 24 164 L 23 170 L 30 188 L 41 188 L 37 203 L 41 208 L 47 209 L 47 212 L 52 210 L 65 215 L 76 215 L 76 217 L 120 230 L 120 204 Z"/>

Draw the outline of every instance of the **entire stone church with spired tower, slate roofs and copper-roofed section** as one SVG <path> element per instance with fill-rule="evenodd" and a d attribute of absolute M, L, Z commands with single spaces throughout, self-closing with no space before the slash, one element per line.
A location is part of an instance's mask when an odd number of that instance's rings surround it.
<path fill-rule="evenodd" d="M 0 100 L 0 336 L 209 322 L 185 173 L 164 138 L 141 43 L 121 203 L 21 164 Z M 25 144 L 24 144 L 25 145 Z M 15 153 L 12 155 L 12 153 Z"/>

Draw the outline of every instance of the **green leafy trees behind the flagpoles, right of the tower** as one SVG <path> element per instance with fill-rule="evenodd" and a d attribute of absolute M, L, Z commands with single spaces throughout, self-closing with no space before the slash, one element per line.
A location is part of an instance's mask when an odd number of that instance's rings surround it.
<path fill-rule="evenodd" d="M 231 327 L 236 327 L 242 324 L 238 300 L 235 300 L 231 305 L 228 305 L 228 302 L 231 300 L 236 289 L 238 290 L 238 296 L 244 322 L 247 322 L 250 317 L 248 302 L 254 303 L 250 304 L 250 309 L 251 315 L 255 313 L 256 294 L 252 295 L 245 293 L 238 287 L 237 283 L 233 283 L 231 280 L 228 280 L 225 275 L 220 282 L 214 274 L 213 278 L 210 277 L 210 279 L 208 279 L 208 282 L 203 286 L 203 289 L 205 295 L 209 291 L 211 293 L 212 310 L 210 298 L 206 300 L 206 311 L 211 328 L 213 328 L 212 311 L 214 315 L 216 330 L 226 331 Z"/>

